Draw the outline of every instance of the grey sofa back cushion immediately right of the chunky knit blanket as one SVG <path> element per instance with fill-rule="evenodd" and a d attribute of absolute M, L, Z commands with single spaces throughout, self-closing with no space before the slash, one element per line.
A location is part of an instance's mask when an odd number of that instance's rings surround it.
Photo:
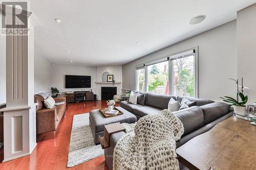
<path fill-rule="evenodd" d="M 200 107 L 192 106 L 174 113 L 184 126 L 184 133 L 182 136 L 204 126 L 204 114 Z"/>

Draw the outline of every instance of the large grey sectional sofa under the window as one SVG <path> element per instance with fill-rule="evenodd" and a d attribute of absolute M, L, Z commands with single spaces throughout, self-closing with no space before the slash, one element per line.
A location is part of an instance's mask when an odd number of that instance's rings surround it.
<path fill-rule="evenodd" d="M 167 109 L 170 98 L 181 103 L 183 97 L 158 95 L 153 93 L 145 93 L 144 105 L 135 105 L 127 101 L 120 103 L 120 106 L 132 112 L 137 120 L 148 114 L 158 114 L 161 110 Z M 188 140 L 210 130 L 222 120 L 230 117 L 233 113 L 230 105 L 222 102 L 214 102 L 207 99 L 186 98 L 191 102 L 196 102 L 196 106 L 192 106 L 183 110 L 174 112 L 181 120 L 184 126 L 184 134 L 181 139 L 176 142 L 177 148 L 186 143 Z M 105 161 L 109 169 L 113 166 L 113 151 L 117 141 L 124 135 L 124 132 L 118 132 L 111 135 L 110 148 L 104 150 Z M 183 165 L 180 165 L 182 169 Z"/>

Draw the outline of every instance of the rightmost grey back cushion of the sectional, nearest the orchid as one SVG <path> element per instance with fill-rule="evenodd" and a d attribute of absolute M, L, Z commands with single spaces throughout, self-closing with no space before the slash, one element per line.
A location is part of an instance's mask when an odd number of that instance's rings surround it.
<path fill-rule="evenodd" d="M 230 105 L 223 102 L 210 103 L 200 107 L 204 113 L 204 124 L 208 124 L 217 118 L 227 114 L 230 109 Z"/>

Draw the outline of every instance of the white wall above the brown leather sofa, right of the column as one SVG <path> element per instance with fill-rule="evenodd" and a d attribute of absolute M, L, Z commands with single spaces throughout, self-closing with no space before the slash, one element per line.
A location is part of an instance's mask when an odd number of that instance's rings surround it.
<path fill-rule="evenodd" d="M 34 90 L 35 94 L 51 90 L 52 67 L 50 61 L 41 56 L 34 57 Z"/>

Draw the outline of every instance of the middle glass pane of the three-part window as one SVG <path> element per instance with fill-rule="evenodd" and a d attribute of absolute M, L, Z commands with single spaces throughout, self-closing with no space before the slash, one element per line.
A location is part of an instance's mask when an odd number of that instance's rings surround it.
<path fill-rule="evenodd" d="M 156 94 L 169 94 L 169 62 L 147 66 L 147 91 Z"/>

